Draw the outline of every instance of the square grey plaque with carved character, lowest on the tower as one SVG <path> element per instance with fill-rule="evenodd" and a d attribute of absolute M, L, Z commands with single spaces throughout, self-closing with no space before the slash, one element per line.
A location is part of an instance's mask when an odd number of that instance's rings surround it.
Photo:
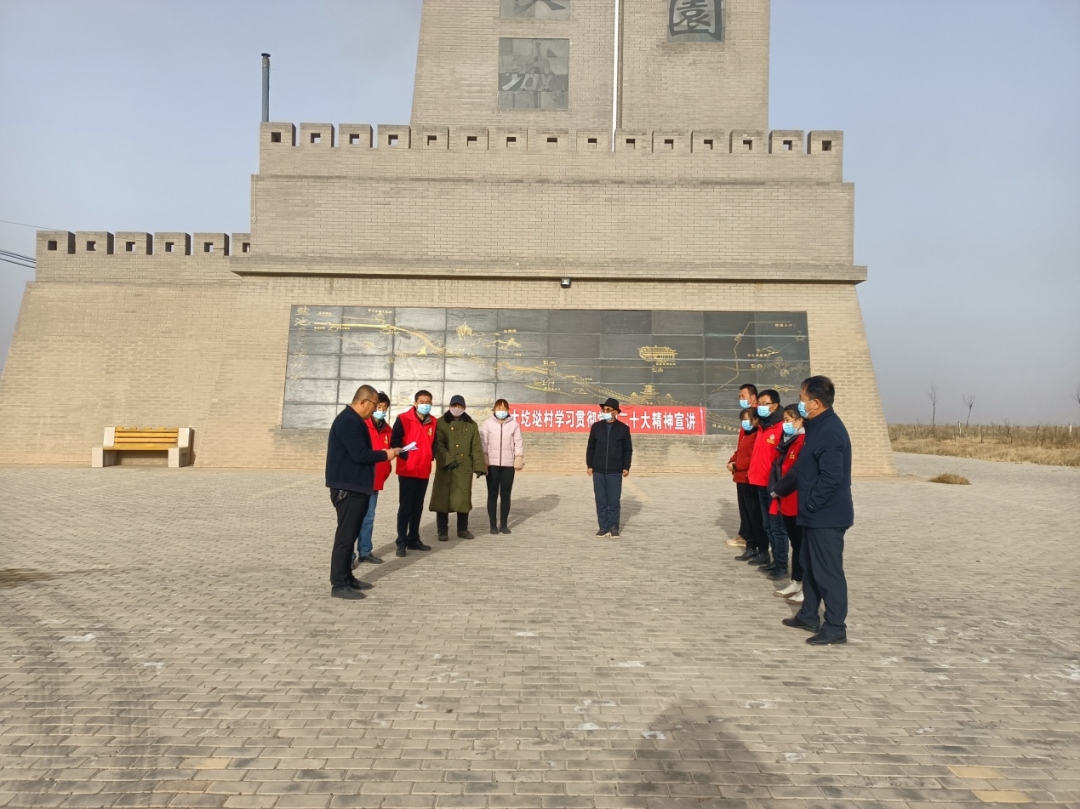
<path fill-rule="evenodd" d="M 570 40 L 499 40 L 499 109 L 566 109 Z"/>

